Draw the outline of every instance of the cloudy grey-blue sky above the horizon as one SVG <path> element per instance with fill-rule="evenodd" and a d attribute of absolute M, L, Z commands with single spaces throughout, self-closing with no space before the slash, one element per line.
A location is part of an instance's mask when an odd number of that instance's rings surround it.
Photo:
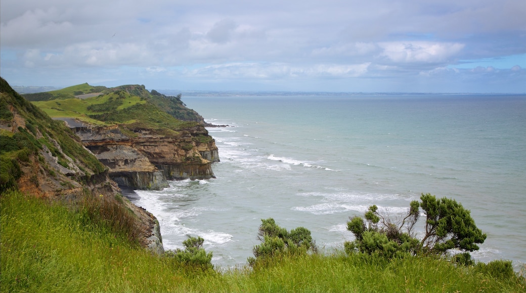
<path fill-rule="evenodd" d="M 12 86 L 526 93 L 524 0 L 2 0 Z"/>

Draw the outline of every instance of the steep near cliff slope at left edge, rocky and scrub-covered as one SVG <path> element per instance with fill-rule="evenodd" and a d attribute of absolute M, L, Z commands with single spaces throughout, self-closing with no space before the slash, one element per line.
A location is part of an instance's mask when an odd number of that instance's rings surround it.
<path fill-rule="evenodd" d="M 157 219 L 120 195 L 110 171 L 63 122 L 50 119 L 1 78 L 0 159 L 0 193 L 18 189 L 77 209 L 104 203 L 130 220 L 133 239 L 153 252 L 164 251 Z"/>

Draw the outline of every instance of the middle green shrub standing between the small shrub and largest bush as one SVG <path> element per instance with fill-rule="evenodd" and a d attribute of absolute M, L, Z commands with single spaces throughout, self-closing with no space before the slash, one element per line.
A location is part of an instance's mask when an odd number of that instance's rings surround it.
<path fill-rule="evenodd" d="M 255 257 L 248 258 L 248 264 L 254 267 L 258 261 L 283 255 L 301 255 L 317 252 L 317 247 L 309 229 L 297 227 L 290 232 L 276 224 L 273 218 L 261 219 L 258 239 L 261 244 L 254 246 Z"/>

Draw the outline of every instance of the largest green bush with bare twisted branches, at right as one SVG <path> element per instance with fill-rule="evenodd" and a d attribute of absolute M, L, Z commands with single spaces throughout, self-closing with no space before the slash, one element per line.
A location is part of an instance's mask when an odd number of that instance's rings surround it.
<path fill-rule="evenodd" d="M 478 250 L 486 234 L 477 228 L 470 211 L 450 198 L 437 199 L 422 194 L 421 202 L 412 201 L 406 215 L 391 218 L 369 207 L 364 217 L 351 217 L 347 229 L 356 240 L 346 242 L 347 252 L 379 253 L 387 257 L 401 254 L 445 254 L 449 249 L 462 252 Z M 413 231 L 420 217 L 420 208 L 426 216 L 424 236 L 417 239 Z"/>

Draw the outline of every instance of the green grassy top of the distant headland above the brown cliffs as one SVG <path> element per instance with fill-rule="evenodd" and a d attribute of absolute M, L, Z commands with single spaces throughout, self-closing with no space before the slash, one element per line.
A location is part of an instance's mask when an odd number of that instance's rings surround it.
<path fill-rule="evenodd" d="M 85 99 L 75 95 L 100 92 Z M 40 95 L 39 97 L 36 97 Z M 178 131 L 197 125 L 203 118 L 186 108 L 178 97 L 167 97 L 144 86 L 92 87 L 87 83 L 46 93 L 24 95 L 53 118 L 75 118 L 94 125 L 119 124 L 125 128 Z"/>

